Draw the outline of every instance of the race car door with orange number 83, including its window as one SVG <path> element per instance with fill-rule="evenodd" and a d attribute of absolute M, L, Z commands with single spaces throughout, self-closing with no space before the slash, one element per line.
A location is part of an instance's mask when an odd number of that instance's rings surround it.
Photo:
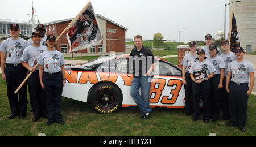
<path fill-rule="evenodd" d="M 183 108 L 185 90 L 182 80 L 179 68 L 163 60 L 156 62 L 151 81 L 150 105 Z"/>

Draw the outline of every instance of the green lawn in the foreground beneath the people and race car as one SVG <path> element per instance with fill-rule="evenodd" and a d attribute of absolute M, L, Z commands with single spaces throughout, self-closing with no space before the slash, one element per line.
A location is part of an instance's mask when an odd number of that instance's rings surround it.
<path fill-rule="evenodd" d="M 28 105 L 28 110 L 30 105 Z M 32 113 L 26 118 L 16 117 L 8 120 L 10 114 L 6 94 L 6 83 L 0 79 L 0 135 L 28 135 L 39 133 L 49 135 L 122 135 L 122 136 L 152 136 L 152 135 L 256 135 L 256 96 L 250 96 L 246 132 L 242 133 L 237 127 L 225 126 L 226 120 L 204 123 L 202 119 L 192 122 L 192 116 L 185 116 L 183 109 L 166 109 L 156 107 L 148 120 L 139 119 L 138 107 L 122 108 L 113 114 L 97 114 L 88 103 L 63 98 L 61 113 L 64 126 L 53 123 L 46 126 L 47 119 L 40 118 L 38 122 L 31 121 Z"/>

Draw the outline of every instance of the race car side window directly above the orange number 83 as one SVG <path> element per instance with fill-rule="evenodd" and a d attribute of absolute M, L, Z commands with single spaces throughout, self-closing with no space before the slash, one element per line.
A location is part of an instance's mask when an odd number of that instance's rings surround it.
<path fill-rule="evenodd" d="M 181 70 L 165 62 L 156 63 L 155 75 L 158 73 L 159 75 L 164 75 L 164 76 L 182 76 Z"/>

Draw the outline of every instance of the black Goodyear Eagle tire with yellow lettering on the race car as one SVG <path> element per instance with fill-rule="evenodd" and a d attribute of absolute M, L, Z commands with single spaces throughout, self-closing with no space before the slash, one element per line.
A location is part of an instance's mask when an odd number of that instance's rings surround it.
<path fill-rule="evenodd" d="M 113 113 L 122 107 L 123 97 L 121 90 L 112 83 L 96 85 L 90 94 L 90 105 L 98 113 Z"/>

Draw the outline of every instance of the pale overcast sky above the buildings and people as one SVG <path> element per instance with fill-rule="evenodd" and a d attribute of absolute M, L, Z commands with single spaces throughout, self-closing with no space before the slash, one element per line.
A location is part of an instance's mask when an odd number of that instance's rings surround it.
<path fill-rule="evenodd" d="M 40 23 L 75 18 L 89 0 L 33 0 Z M 152 40 L 162 33 L 166 40 L 182 42 L 204 40 L 205 34 L 216 38 L 224 31 L 224 4 L 229 0 L 91 0 L 96 14 L 123 25 L 126 38 L 141 34 Z M 228 7 L 226 31 L 228 31 Z M 27 21 L 32 13 L 32 0 L 1 1 L 0 19 Z"/>

